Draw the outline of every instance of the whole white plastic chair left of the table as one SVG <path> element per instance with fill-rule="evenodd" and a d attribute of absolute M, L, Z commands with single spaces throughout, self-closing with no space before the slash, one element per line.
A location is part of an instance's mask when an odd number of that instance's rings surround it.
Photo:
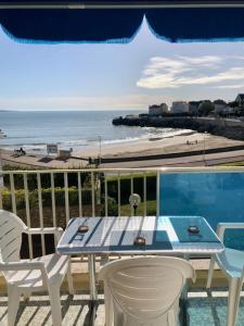
<path fill-rule="evenodd" d="M 8 325 L 15 323 L 21 296 L 49 291 L 52 322 L 62 325 L 60 286 L 67 273 L 69 293 L 74 293 L 69 258 L 57 253 L 34 260 L 20 260 L 22 234 L 53 234 L 56 240 L 62 228 L 28 228 L 15 214 L 0 210 L 0 271 L 8 285 Z"/>

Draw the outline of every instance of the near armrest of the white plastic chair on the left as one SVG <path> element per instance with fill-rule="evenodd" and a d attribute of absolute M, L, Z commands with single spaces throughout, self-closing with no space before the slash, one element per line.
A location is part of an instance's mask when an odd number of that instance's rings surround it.
<path fill-rule="evenodd" d="M 20 262 L 0 263 L 0 269 L 2 272 L 40 269 L 43 283 L 47 283 L 48 280 L 48 274 L 43 262 L 20 261 Z"/>

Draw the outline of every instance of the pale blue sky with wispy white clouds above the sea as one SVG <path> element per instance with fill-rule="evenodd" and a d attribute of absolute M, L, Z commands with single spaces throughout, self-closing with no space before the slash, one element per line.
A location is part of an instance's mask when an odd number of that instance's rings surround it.
<path fill-rule="evenodd" d="M 244 92 L 244 42 L 21 43 L 0 27 L 0 110 L 147 110 Z"/>

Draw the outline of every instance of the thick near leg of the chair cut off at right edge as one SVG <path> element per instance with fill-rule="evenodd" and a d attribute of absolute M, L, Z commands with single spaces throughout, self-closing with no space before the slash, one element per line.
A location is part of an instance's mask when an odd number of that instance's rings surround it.
<path fill-rule="evenodd" d="M 239 278 L 231 278 L 229 283 L 229 298 L 227 311 L 227 326 L 234 326 L 236 319 L 236 292 L 239 287 Z"/>

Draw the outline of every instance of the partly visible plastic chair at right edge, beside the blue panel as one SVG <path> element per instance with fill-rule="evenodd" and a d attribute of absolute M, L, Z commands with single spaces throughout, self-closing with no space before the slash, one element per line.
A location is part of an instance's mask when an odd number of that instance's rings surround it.
<path fill-rule="evenodd" d="M 223 241 L 226 229 L 230 228 L 244 229 L 244 223 L 219 223 L 217 227 L 217 235 L 219 236 L 221 241 Z M 229 298 L 226 325 L 234 326 L 237 316 L 242 285 L 244 281 L 244 252 L 226 248 L 224 252 L 213 255 L 208 271 L 207 288 L 210 288 L 211 285 L 215 262 L 217 262 L 229 280 Z"/>

